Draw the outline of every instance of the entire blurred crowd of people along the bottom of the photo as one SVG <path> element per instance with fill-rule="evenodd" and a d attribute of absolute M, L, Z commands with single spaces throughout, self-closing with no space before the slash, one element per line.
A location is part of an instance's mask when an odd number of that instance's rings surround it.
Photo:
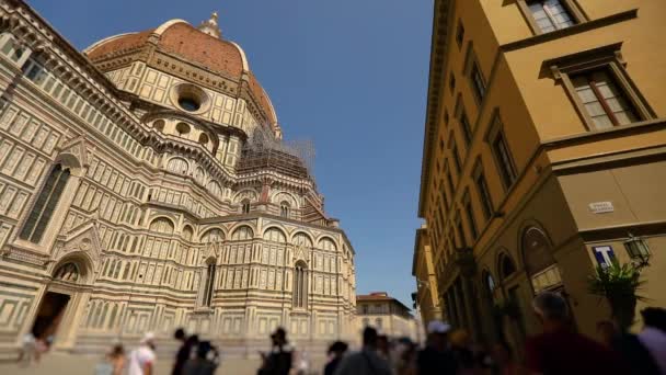
<path fill-rule="evenodd" d="M 427 325 L 427 341 L 420 346 L 409 338 L 390 340 L 375 328 L 363 331 L 363 345 L 349 352 L 349 345 L 337 341 L 328 350 L 323 368 L 310 368 L 307 351 L 297 351 L 278 328 L 271 334 L 271 350 L 261 352 L 257 375 L 429 375 L 429 374 L 641 374 L 666 375 L 666 309 L 650 307 L 641 311 L 644 327 L 633 334 L 622 332 L 610 320 L 599 321 L 599 341 L 577 332 L 572 325 L 567 304 L 556 293 L 543 292 L 532 302 L 542 332 L 527 340 L 521 359 L 509 344 L 500 341 L 492 346 L 473 343 L 470 334 L 447 322 Z M 196 334 L 175 331 L 179 349 L 173 361 L 173 375 L 211 375 L 220 364 L 218 350 Z M 44 349 L 34 338 L 24 338 L 20 361 Z M 46 344 L 45 344 L 46 345 Z M 38 355 L 38 354 L 36 354 Z M 37 356 L 38 359 L 38 356 Z M 115 344 L 95 367 L 97 375 L 153 375 L 156 340 L 147 333 L 128 354 Z"/>

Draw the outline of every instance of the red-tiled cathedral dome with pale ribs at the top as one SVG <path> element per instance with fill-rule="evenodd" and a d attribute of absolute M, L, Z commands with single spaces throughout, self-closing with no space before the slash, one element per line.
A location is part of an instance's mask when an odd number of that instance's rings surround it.
<path fill-rule="evenodd" d="M 115 68 L 108 61 L 117 63 L 120 57 L 125 57 L 127 61 L 149 59 L 151 49 L 175 56 L 236 82 L 237 90 L 241 90 L 244 82 L 269 123 L 277 124 L 271 99 L 250 70 L 244 50 L 222 37 L 217 13 L 213 13 L 210 20 L 198 27 L 184 20 L 170 20 L 157 29 L 111 36 L 85 48 L 84 54 L 97 68 L 107 71 Z"/>

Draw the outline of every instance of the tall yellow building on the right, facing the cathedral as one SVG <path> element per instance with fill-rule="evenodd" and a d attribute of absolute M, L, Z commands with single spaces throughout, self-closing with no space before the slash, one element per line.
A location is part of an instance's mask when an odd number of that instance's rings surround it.
<path fill-rule="evenodd" d="M 631 235 L 651 251 L 642 294 L 666 305 L 664 14 L 663 0 L 435 1 L 418 214 L 447 319 L 521 348 L 532 296 L 552 289 L 594 336 L 609 310 L 587 276 L 641 261 Z"/>

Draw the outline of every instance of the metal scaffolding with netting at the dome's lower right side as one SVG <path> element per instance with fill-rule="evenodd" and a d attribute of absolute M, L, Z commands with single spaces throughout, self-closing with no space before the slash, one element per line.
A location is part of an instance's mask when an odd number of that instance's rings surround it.
<path fill-rule="evenodd" d="M 314 181 L 314 146 L 309 139 L 284 140 L 268 126 L 255 126 L 243 146 L 237 172 L 272 169 L 297 179 Z"/>

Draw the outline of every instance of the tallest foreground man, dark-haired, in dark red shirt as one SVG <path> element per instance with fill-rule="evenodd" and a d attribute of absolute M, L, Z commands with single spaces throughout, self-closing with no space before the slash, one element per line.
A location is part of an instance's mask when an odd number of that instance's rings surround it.
<path fill-rule="evenodd" d="M 566 302 L 559 294 L 542 292 L 532 307 L 543 333 L 530 338 L 526 345 L 530 374 L 631 374 L 613 351 L 574 332 Z"/>

